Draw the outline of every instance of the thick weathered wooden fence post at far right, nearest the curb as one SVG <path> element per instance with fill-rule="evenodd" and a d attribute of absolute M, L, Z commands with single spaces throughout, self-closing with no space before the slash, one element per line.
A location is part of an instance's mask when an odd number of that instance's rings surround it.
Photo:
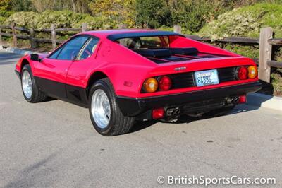
<path fill-rule="evenodd" d="M 262 28 L 259 35 L 259 79 L 270 82 L 271 67 L 267 61 L 271 60 L 272 46 L 268 40 L 272 38 L 273 32 L 271 28 Z"/>

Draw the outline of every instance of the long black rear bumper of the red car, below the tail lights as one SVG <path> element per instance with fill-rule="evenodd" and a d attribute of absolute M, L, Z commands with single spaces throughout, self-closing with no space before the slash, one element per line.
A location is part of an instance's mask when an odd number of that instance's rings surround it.
<path fill-rule="evenodd" d="M 171 107 L 232 95 L 243 95 L 246 93 L 256 92 L 261 88 L 262 84 L 259 81 L 256 81 L 222 88 L 197 90 L 189 93 L 178 93 L 175 95 L 157 97 L 154 96 L 150 98 L 128 98 L 116 96 L 116 101 L 118 102 L 118 107 L 125 116 L 135 117 L 147 110 L 152 110 L 158 107 Z"/>

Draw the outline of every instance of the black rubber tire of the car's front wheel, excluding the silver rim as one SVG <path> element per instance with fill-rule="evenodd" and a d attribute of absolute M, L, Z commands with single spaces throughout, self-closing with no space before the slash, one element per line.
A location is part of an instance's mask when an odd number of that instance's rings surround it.
<path fill-rule="evenodd" d="M 30 98 L 27 98 L 25 96 L 25 93 L 23 91 L 23 73 L 24 71 L 27 71 L 29 74 L 30 74 L 30 78 L 31 78 L 31 81 L 32 81 L 32 95 Z M 35 102 L 43 102 L 44 100 L 47 99 L 47 96 L 42 93 L 39 88 L 37 87 L 37 84 L 35 82 L 35 78 L 33 77 L 33 74 L 32 74 L 32 71 L 31 71 L 31 68 L 30 68 L 30 65 L 29 64 L 26 64 L 25 66 L 23 66 L 23 69 L 21 71 L 21 78 L 20 78 L 20 83 L 21 83 L 21 88 L 22 88 L 22 91 L 23 91 L 23 96 L 25 98 L 25 100 L 27 100 L 27 102 L 31 102 L 31 103 L 35 103 Z"/>

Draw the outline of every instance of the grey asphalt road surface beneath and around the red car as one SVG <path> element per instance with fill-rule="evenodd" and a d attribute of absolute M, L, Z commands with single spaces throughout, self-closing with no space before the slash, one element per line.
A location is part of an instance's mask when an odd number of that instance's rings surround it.
<path fill-rule="evenodd" d="M 240 105 L 226 116 L 100 136 L 87 109 L 25 102 L 17 57 L 0 53 L 0 187 L 167 187 L 168 175 L 276 177 L 266 187 L 282 187 L 281 112 Z"/>

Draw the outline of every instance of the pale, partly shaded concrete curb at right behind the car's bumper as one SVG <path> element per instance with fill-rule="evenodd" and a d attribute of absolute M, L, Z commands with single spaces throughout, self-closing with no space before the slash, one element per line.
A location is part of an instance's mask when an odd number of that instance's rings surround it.
<path fill-rule="evenodd" d="M 266 107 L 271 110 L 279 110 L 282 112 L 282 98 L 264 95 L 261 93 L 250 93 L 247 95 L 247 104 L 259 107 Z"/>

